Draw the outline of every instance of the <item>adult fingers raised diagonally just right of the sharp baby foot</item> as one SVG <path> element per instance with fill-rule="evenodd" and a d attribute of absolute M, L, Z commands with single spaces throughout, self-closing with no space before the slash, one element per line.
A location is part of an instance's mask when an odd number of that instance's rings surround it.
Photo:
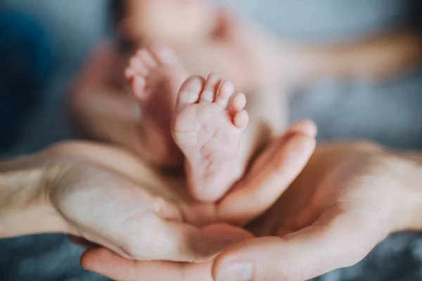
<path fill-rule="evenodd" d="M 219 203 L 219 221 L 241 225 L 248 223 L 267 211 L 300 174 L 314 152 L 316 129 L 312 128 L 312 124 L 298 125 L 292 126 L 285 136 L 274 141 L 260 155 L 248 175 Z M 310 135 L 298 131 L 306 131 Z"/>

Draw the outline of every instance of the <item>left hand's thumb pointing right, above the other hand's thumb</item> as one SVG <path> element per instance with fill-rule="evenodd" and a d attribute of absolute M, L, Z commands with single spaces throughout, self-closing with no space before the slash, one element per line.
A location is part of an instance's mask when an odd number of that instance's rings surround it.
<path fill-rule="evenodd" d="M 198 228 L 153 215 L 127 229 L 131 231 L 122 237 L 127 252 L 123 256 L 138 261 L 203 262 L 231 244 L 252 237 L 248 231 L 227 224 Z"/>

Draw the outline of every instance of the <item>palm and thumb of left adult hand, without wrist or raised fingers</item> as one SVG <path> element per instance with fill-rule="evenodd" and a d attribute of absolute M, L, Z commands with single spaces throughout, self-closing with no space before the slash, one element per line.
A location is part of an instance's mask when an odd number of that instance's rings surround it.
<path fill-rule="evenodd" d="M 198 262 L 250 234 L 222 223 L 199 227 L 184 219 L 177 183 L 156 176 L 131 154 L 91 143 L 51 148 L 48 198 L 65 232 L 127 259 Z M 131 174 L 131 176 L 129 176 Z"/>

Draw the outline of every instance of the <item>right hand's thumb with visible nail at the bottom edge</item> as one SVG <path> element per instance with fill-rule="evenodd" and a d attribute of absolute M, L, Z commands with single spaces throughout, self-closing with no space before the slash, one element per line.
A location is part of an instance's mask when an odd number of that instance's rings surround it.
<path fill-rule="evenodd" d="M 332 210 L 312 226 L 285 237 L 237 244 L 215 261 L 215 281 L 309 280 L 352 266 L 386 235 L 364 212 Z"/>

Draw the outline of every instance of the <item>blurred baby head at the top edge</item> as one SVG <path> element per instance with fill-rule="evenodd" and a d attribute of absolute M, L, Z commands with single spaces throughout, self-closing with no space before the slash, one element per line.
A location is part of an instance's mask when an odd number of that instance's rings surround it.
<path fill-rule="evenodd" d="M 111 0 L 110 9 L 117 35 L 136 46 L 192 44 L 207 37 L 215 18 L 207 0 Z"/>

